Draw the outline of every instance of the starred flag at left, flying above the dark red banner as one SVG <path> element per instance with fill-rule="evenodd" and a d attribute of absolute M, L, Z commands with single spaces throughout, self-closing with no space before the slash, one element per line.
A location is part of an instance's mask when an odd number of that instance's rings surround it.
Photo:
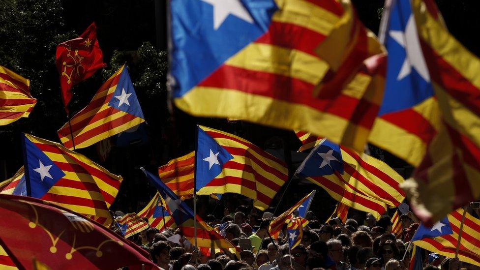
<path fill-rule="evenodd" d="M 109 173 L 86 156 L 58 143 L 23 135 L 27 194 L 103 219 L 119 192 L 122 178 Z"/>

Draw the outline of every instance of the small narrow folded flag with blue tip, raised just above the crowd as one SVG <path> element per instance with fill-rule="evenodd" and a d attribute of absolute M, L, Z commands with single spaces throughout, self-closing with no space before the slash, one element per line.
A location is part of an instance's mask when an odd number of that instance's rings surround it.
<path fill-rule="evenodd" d="M 275 217 L 269 225 L 269 232 L 271 237 L 278 239 L 280 232 L 285 224 L 288 224 L 290 220 L 294 217 L 293 214 L 295 211 L 298 211 L 298 216 L 305 217 L 306 212 L 310 208 L 312 203 L 313 196 L 315 196 L 316 190 L 308 193 L 303 197 L 298 203 L 292 206 L 289 210 L 286 210 L 281 215 Z"/>

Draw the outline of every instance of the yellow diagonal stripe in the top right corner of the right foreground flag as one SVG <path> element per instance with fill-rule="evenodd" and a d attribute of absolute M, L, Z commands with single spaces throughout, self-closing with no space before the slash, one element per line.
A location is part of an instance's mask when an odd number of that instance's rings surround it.
<path fill-rule="evenodd" d="M 412 10 L 415 14 L 420 38 L 466 80 L 480 88 L 480 77 L 478 76 L 480 60 L 465 49 L 445 27 L 428 13 L 423 1 L 414 0 Z"/>

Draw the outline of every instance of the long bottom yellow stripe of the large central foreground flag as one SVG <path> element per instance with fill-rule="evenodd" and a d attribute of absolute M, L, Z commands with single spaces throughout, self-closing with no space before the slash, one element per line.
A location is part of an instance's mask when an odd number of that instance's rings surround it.
<path fill-rule="evenodd" d="M 348 120 L 304 105 L 237 90 L 196 87 L 181 98 L 176 98 L 175 103 L 181 110 L 195 116 L 233 117 L 289 130 L 310 131 L 358 151 L 364 149 L 369 132 L 358 126 L 356 132 L 349 135 L 350 138 L 344 138 L 347 129 L 355 126 Z M 350 144 L 345 142 L 352 137 L 356 140 Z"/>

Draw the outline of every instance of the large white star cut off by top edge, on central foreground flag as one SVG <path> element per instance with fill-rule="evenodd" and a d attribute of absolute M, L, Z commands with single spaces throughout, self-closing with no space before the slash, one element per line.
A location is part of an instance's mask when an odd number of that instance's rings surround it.
<path fill-rule="evenodd" d="M 253 18 L 240 0 L 202 0 L 213 6 L 213 29 L 217 30 L 228 15 L 232 14 L 253 24 Z"/>

